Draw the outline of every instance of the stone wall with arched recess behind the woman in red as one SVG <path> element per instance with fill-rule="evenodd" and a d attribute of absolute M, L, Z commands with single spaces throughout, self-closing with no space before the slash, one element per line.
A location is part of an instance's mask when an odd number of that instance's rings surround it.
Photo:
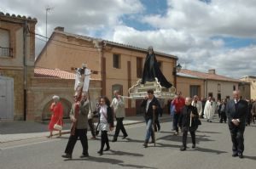
<path fill-rule="evenodd" d="M 73 104 L 73 85 L 74 80 L 55 79 L 55 78 L 32 78 L 32 85 L 27 91 L 27 121 L 43 121 L 50 117 L 49 105 L 52 103 L 53 95 L 61 98 L 61 104 L 64 106 L 64 117 Z M 92 109 L 95 109 L 96 101 L 101 96 L 101 81 L 90 81 L 90 100 Z"/>

